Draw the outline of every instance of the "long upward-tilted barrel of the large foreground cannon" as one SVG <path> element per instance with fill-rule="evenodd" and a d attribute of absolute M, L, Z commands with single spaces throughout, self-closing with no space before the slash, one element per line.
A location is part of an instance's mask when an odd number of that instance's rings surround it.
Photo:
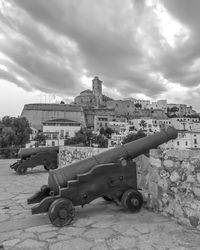
<path fill-rule="evenodd" d="M 162 143 L 177 138 L 177 135 L 178 133 L 175 128 L 168 127 L 166 130 L 154 135 L 140 138 L 120 147 L 72 163 L 61 169 L 54 170 L 49 173 L 48 186 L 57 193 L 59 187 L 67 186 L 67 181 L 76 179 L 78 174 L 86 173 L 96 165 L 117 162 L 121 158 L 133 159 L 149 149 L 156 148 Z"/>

